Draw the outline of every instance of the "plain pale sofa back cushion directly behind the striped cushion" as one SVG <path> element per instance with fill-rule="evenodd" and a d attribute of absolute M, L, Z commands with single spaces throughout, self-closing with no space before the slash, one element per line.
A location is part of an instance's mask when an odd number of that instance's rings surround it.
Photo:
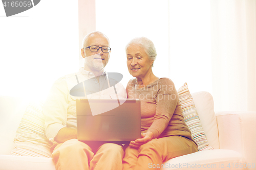
<path fill-rule="evenodd" d="M 218 126 L 212 95 L 206 91 L 192 93 L 191 95 L 209 145 L 214 149 L 219 149 Z"/>

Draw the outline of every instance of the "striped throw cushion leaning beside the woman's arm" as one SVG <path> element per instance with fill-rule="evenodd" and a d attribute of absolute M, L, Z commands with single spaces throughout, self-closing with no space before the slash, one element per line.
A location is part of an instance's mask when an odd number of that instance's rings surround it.
<path fill-rule="evenodd" d="M 178 94 L 184 122 L 187 124 L 191 131 L 191 136 L 198 145 L 198 151 L 213 149 L 209 146 L 205 136 L 194 101 L 187 88 L 187 83 L 178 90 Z"/>

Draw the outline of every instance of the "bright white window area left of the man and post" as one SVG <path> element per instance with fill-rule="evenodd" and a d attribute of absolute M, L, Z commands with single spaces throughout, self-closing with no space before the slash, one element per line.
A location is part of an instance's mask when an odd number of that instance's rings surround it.
<path fill-rule="evenodd" d="M 40 1 L 6 17 L 0 5 L 0 95 L 45 96 L 79 66 L 77 1 Z"/>

